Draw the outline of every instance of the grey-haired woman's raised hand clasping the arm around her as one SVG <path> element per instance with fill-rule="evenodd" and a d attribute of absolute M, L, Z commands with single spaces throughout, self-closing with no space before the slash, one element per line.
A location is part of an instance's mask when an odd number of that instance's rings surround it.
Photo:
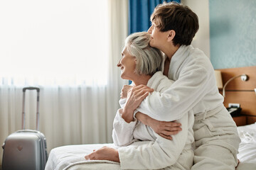
<path fill-rule="evenodd" d="M 132 88 L 129 89 L 127 94 L 127 102 L 122 113 L 122 118 L 124 118 L 127 123 L 130 123 L 134 120 L 133 113 L 135 109 L 138 108 L 144 98 L 146 98 L 146 96 L 148 96 L 149 93 L 153 91 L 154 89 L 151 89 L 145 85 L 132 86 Z"/>

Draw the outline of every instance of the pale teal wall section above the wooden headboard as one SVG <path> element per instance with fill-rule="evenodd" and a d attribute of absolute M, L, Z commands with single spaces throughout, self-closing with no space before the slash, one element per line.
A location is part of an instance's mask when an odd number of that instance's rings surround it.
<path fill-rule="evenodd" d="M 215 69 L 256 65 L 256 1 L 210 0 L 210 61 Z"/>

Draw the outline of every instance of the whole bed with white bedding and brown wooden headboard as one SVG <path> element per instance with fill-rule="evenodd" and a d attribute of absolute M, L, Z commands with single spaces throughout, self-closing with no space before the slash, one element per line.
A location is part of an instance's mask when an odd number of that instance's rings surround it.
<path fill-rule="evenodd" d="M 238 149 L 238 159 L 240 164 L 236 170 L 255 170 L 256 169 L 256 95 L 253 89 L 256 88 L 256 67 L 240 67 L 232 69 L 220 69 L 223 77 L 223 84 L 228 79 L 240 74 L 247 74 L 250 81 L 242 82 L 234 79 L 226 86 L 226 97 L 224 105 L 228 103 L 240 103 L 242 115 L 234 118 L 238 125 L 238 133 L 241 139 Z M 222 93 L 220 89 L 220 94 Z M 85 155 L 90 154 L 93 149 L 113 144 L 97 145 L 68 145 L 52 149 L 49 154 L 46 170 L 78 170 L 78 169 L 120 169 L 117 162 L 110 161 L 87 161 Z"/>

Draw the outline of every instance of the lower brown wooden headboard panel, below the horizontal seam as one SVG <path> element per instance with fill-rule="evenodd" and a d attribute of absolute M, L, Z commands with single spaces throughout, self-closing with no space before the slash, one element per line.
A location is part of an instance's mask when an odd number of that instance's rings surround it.
<path fill-rule="evenodd" d="M 224 106 L 228 108 L 228 103 L 240 103 L 242 114 L 256 115 L 256 95 L 253 91 L 226 91 Z"/>

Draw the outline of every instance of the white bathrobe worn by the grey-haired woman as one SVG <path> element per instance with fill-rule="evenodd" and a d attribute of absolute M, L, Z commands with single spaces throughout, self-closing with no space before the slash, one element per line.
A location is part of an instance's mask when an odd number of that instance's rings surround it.
<path fill-rule="evenodd" d="M 156 72 L 149 79 L 147 86 L 154 91 L 164 93 L 172 83 L 162 72 Z M 124 106 L 124 103 L 125 99 L 120 101 L 121 106 Z M 183 130 L 178 135 L 174 135 L 173 140 L 166 140 L 138 120 L 125 122 L 117 111 L 112 137 L 114 144 L 120 146 L 118 152 L 121 168 L 191 169 L 194 142 L 193 112 L 188 111 L 177 121 L 182 124 Z"/>

